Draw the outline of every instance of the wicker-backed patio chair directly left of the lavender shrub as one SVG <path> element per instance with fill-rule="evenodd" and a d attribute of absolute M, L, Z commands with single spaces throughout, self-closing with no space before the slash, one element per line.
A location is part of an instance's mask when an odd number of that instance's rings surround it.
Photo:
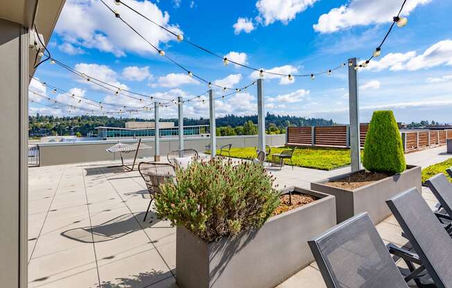
<path fill-rule="evenodd" d="M 175 167 L 168 163 L 155 163 L 155 162 L 140 162 L 138 164 L 139 174 L 144 179 L 146 187 L 148 188 L 150 201 L 146 215 L 144 215 L 143 221 L 146 221 L 148 217 L 150 204 L 153 203 L 155 193 L 160 192 L 160 184 L 167 181 L 175 181 Z"/>

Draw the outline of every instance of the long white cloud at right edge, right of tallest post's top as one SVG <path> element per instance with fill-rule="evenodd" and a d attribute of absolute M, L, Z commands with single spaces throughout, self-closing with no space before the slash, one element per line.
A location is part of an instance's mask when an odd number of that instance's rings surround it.
<path fill-rule="evenodd" d="M 381 60 L 372 60 L 365 69 L 376 71 L 383 69 L 415 71 L 442 64 L 452 66 L 452 40 L 450 39 L 433 44 L 421 55 L 417 55 L 416 51 L 389 53 Z"/>

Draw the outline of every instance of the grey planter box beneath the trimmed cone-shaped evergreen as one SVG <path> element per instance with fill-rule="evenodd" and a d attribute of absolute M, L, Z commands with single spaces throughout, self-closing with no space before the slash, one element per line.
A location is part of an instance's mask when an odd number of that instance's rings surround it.
<path fill-rule="evenodd" d="M 421 191 L 421 167 L 410 165 L 407 165 L 407 169 L 401 174 L 395 174 L 355 190 L 326 185 L 329 181 L 343 179 L 351 174 L 353 173 L 350 172 L 311 183 L 311 190 L 336 197 L 338 223 L 358 213 L 367 212 L 374 224 L 378 224 L 391 215 L 385 203 L 386 200 L 413 187 Z"/>

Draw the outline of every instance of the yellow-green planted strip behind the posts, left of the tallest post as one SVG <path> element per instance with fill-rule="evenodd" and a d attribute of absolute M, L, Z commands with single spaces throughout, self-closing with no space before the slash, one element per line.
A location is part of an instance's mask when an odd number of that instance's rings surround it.
<path fill-rule="evenodd" d="M 289 147 L 272 147 L 271 154 L 281 153 L 288 150 Z M 220 154 L 220 150 L 217 150 Z M 227 153 L 223 153 L 227 156 Z M 255 147 L 232 148 L 231 157 L 239 159 L 256 158 Z M 268 156 L 271 161 L 271 156 Z M 333 170 L 346 165 L 350 165 L 350 150 L 338 148 L 323 147 L 296 147 L 292 158 L 293 165 L 304 168 L 313 168 L 319 170 Z M 290 160 L 285 159 L 286 164 L 290 164 Z"/>

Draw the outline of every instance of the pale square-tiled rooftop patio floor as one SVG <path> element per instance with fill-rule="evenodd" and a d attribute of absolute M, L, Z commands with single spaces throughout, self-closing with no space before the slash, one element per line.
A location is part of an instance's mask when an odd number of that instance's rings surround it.
<path fill-rule="evenodd" d="M 449 158 L 445 147 L 406 155 L 408 164 Z M 148 192 L 139 172 L 109 168 L 113 161 L 29 169 L 28 283 L 30 287 L 177 287 L 175 228 L 143 222 Z M 349 171 L 285 166 L 279 188 L 308 188 L 311 181 Z M 435 197 L 423 189 L 431 207 Z M 377 227 L 383 240 L 406 245 L 389 217 Z M 399 262 L 398 264 L 401 265 Z M 324 287 L 315 262 L 279 287 Z"/>

